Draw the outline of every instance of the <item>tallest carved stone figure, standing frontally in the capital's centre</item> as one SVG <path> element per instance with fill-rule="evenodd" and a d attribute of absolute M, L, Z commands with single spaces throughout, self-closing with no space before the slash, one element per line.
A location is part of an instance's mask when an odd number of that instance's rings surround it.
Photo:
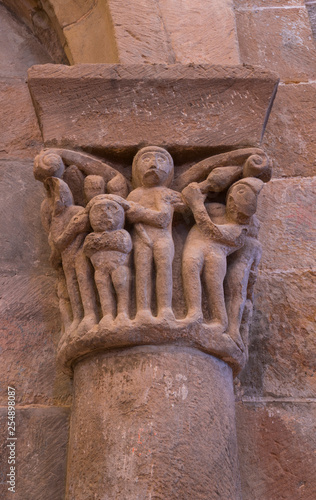
<path fill-rule="evenodd" d="M 134 224 L 133 245 L 136 269 L 137 320 L 152 319 L 152 268 L 156 271 L 157 316 L 174 319 L 172 312 L 172 261 L 174 243 L 171 234 L 174 210 L 184 204 L 179 193 L 169 189 L 173 179 L 173 160 L 163 148 L 149 146 L 135 156 L 133 186 L 126 212 Z"/>

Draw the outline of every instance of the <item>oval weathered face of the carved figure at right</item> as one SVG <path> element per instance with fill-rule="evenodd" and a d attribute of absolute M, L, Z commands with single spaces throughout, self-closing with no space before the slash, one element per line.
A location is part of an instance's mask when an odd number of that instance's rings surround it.
<path fill-rule="evenodd" d="M 229 191 L 226 211 L 230 218 L 239 223 L 247 223 L 257 209 L 257 196 L 245 184 L 237 184 Z"/>

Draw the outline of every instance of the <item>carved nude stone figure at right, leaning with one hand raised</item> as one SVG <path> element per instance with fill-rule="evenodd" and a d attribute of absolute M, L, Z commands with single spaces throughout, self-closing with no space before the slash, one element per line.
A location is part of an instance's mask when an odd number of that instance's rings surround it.
<path fill-rule="evenodd" d="M 224 298 L 227 256 L 242 248 L 257 207 L 263 182 L 245 178 L 228 190 L 226 206 L 204 204 L 206 194 L 197 183 L 189 184 L 182 196 L 191 208 L 196 225 L 190 230 L 183 252 L 183 285 L 188 319 L 202 320 L 201 273 L 204 272 L 211 324 L 225 332 L 228 317 Z"/>

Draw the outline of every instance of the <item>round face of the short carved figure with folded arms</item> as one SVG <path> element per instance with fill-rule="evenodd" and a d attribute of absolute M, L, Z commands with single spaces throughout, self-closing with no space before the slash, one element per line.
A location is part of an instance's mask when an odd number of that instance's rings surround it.
<path fill-rule="evenodd" d="M 90 210 L 90 223 L 94 231 L 113 231 L 124 226 L 124 210 L 115 201 L 102 200 Z"/>

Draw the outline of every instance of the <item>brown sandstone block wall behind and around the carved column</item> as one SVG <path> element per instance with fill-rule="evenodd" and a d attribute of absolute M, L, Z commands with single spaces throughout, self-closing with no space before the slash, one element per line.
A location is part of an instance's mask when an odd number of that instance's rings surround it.
<path fill-rule="evenodd" d="M 178 24 L 178 3 L 184 2 L 162 1 L 158 13 L 151 5 L 157 8 L 157 2 L 138 2 L 143 10 L 138 13 L 136 9 L 132 16 L 120 8 L 122 2 L 108 2 L 112 24 L 106 31 L 107 50 L 101 55 L 94 51 L 91 28 L 85 24 L 92 22 L 94 2 L 91 6 L 80 2 L 81 10 L 69 2 L 69 12 L 60 8 L 62 2 L 54 3 L 52 25 L 59 19 L 60 44 L 55 41 L 58 49 L 50 55 L 44 48 L 50 39 L 45 42 L 34 22 L 27 21 L 32 9 L 39 12 L 39 2 L 5 3 L 21 14 L 26 25 L 0 4 L 1 498 L 7 495 L 6 397 L 11 385 L 17 391 L 19 438 L 14 498 L 63 499 L 71 383 L 55 362 L 59 335 L 55 275 L 40 223 L 43 192 L 32 174 L 32 160 L 42 147 L 42 139 L 26 85 L 31 65 L 66 60 L 63 43 L 71 62 L 82 62 L 82 54 L 88 58 L 83 62 L 242 62 L 280 75 L 263 144 L 274 159 L 274 178 L 264 187 L 258 210 L 264 251 L 250 360 L 236 381 L 238 445 L 244 500 L 315 498 L 312 197 L 316 47 L 308 16 L 308 11 L 313 14 L 314 2 L 307 2 L 307 11 L 303 0 L 235 0 L 234 10 L 230 1 L 225 2 L 225 9 L 224 2 L 209 1 L 210 9 L 216 7 L 219 15 L 225 14 L 225 22 L 223 17 L 217 21 L 222 27 L 219 34 L 226 33 L 225 40 L 230 40 L 228 48 L 222 47 L 216 57 L 212 43 L 215 40 L 215 46 L 220 47 L 221 38 L 210 37 L 210 21 L 205 15 L 204 25 L 196 15 L 197 25 L 193 23 L 194 29 L 192 23 L 188 26 L 190 2 L 185 2 L 187 9 L 182 8 Z M 42 2 L 46 8 L 48 3 Z M 103 2 L 97 4 L 101 9 Z M 205 5 L 199 2 L 194 12 L 199 13 Z M 150 22 L 148 18 L 144 22 L 144 9 L 152 16 Z M 68 17 L 61 19 L 66 14 Z M 108 26 L 108 11 L 104 16 L 102 22 Z M 215 14 L 211 18 L 216 19 Z M 79 24 L 78 19 L 82 20 Z M 101 33 L 102 22 L 101 27 L 98 24 Z M 149 30 L 154 30 L 155 36 L 146 36 Z M 87 39 L 85 50 L 80 49 L 83 36 Z"/>

